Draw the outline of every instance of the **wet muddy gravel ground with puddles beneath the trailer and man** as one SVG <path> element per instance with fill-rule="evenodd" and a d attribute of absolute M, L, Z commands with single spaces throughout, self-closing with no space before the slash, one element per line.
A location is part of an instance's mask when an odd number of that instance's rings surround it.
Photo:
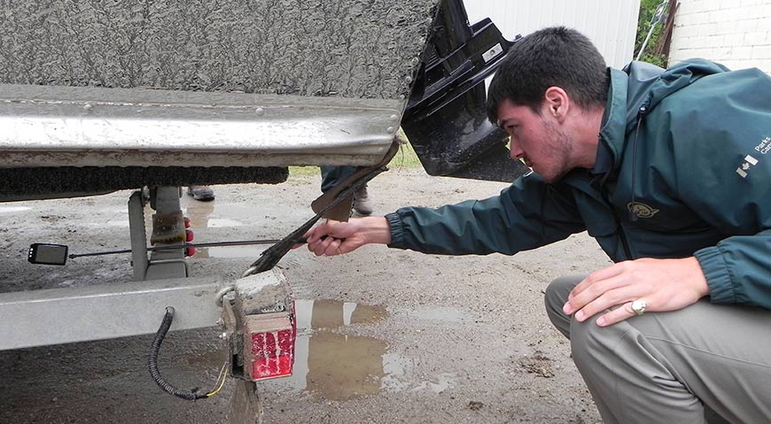
<path fill-rule="evenodd" d="M 196 242 L 277 238 L 311 216 L 318 177 L 277 186 L 214 187 L 183 198 Z M 370 183 L 376 213 L 495 195 L 504 184 L 395 169 Z M 0 204 L 0 291 L 129 281 L 128 256 L 26 262 L 30 243 L 71 252 L 128 247 L 128 192 Z M 200 248 L 193 274 L 236 278 L 259 250 Z M 264 422 L 599 421 L 550 327 L 541 290 L 562 274 L 609 264 L 587 235 L 515 257 L 442 257 L 384 246 L 337 258 L 291 251 L 279 263 L 295 291 L 294 375 L 261 382 Z M 222 366 L 216 328 L 168 335 L 160 366 L 180 387 L 208 387 Z M 0 352 L 0 422 L 222 422 L 233 392 L 170 397 L 146 370 L 150 336 Z"/>

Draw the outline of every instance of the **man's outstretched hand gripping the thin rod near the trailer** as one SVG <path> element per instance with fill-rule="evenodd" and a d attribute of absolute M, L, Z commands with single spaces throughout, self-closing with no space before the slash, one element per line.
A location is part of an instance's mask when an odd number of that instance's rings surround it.
<path fill-rule="evenodd" d="M 351 218 L 348 222 L 328 220 L 305 236 L 308 251 L 316 256 L 333 256 L 354 251 L 364 244 L 391 243 L 391 227 L 385 217 Z"/>

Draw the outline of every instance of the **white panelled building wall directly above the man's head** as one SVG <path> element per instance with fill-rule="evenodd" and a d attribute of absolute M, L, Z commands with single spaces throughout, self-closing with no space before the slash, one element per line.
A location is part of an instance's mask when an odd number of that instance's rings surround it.
<path fill-rule="evenodd" d="M 640 0 L 463 0 L 469 22 L 490 18 L 504 37 L 564 25 L 587 35 L 609 66 L 634 56 Z"/>

